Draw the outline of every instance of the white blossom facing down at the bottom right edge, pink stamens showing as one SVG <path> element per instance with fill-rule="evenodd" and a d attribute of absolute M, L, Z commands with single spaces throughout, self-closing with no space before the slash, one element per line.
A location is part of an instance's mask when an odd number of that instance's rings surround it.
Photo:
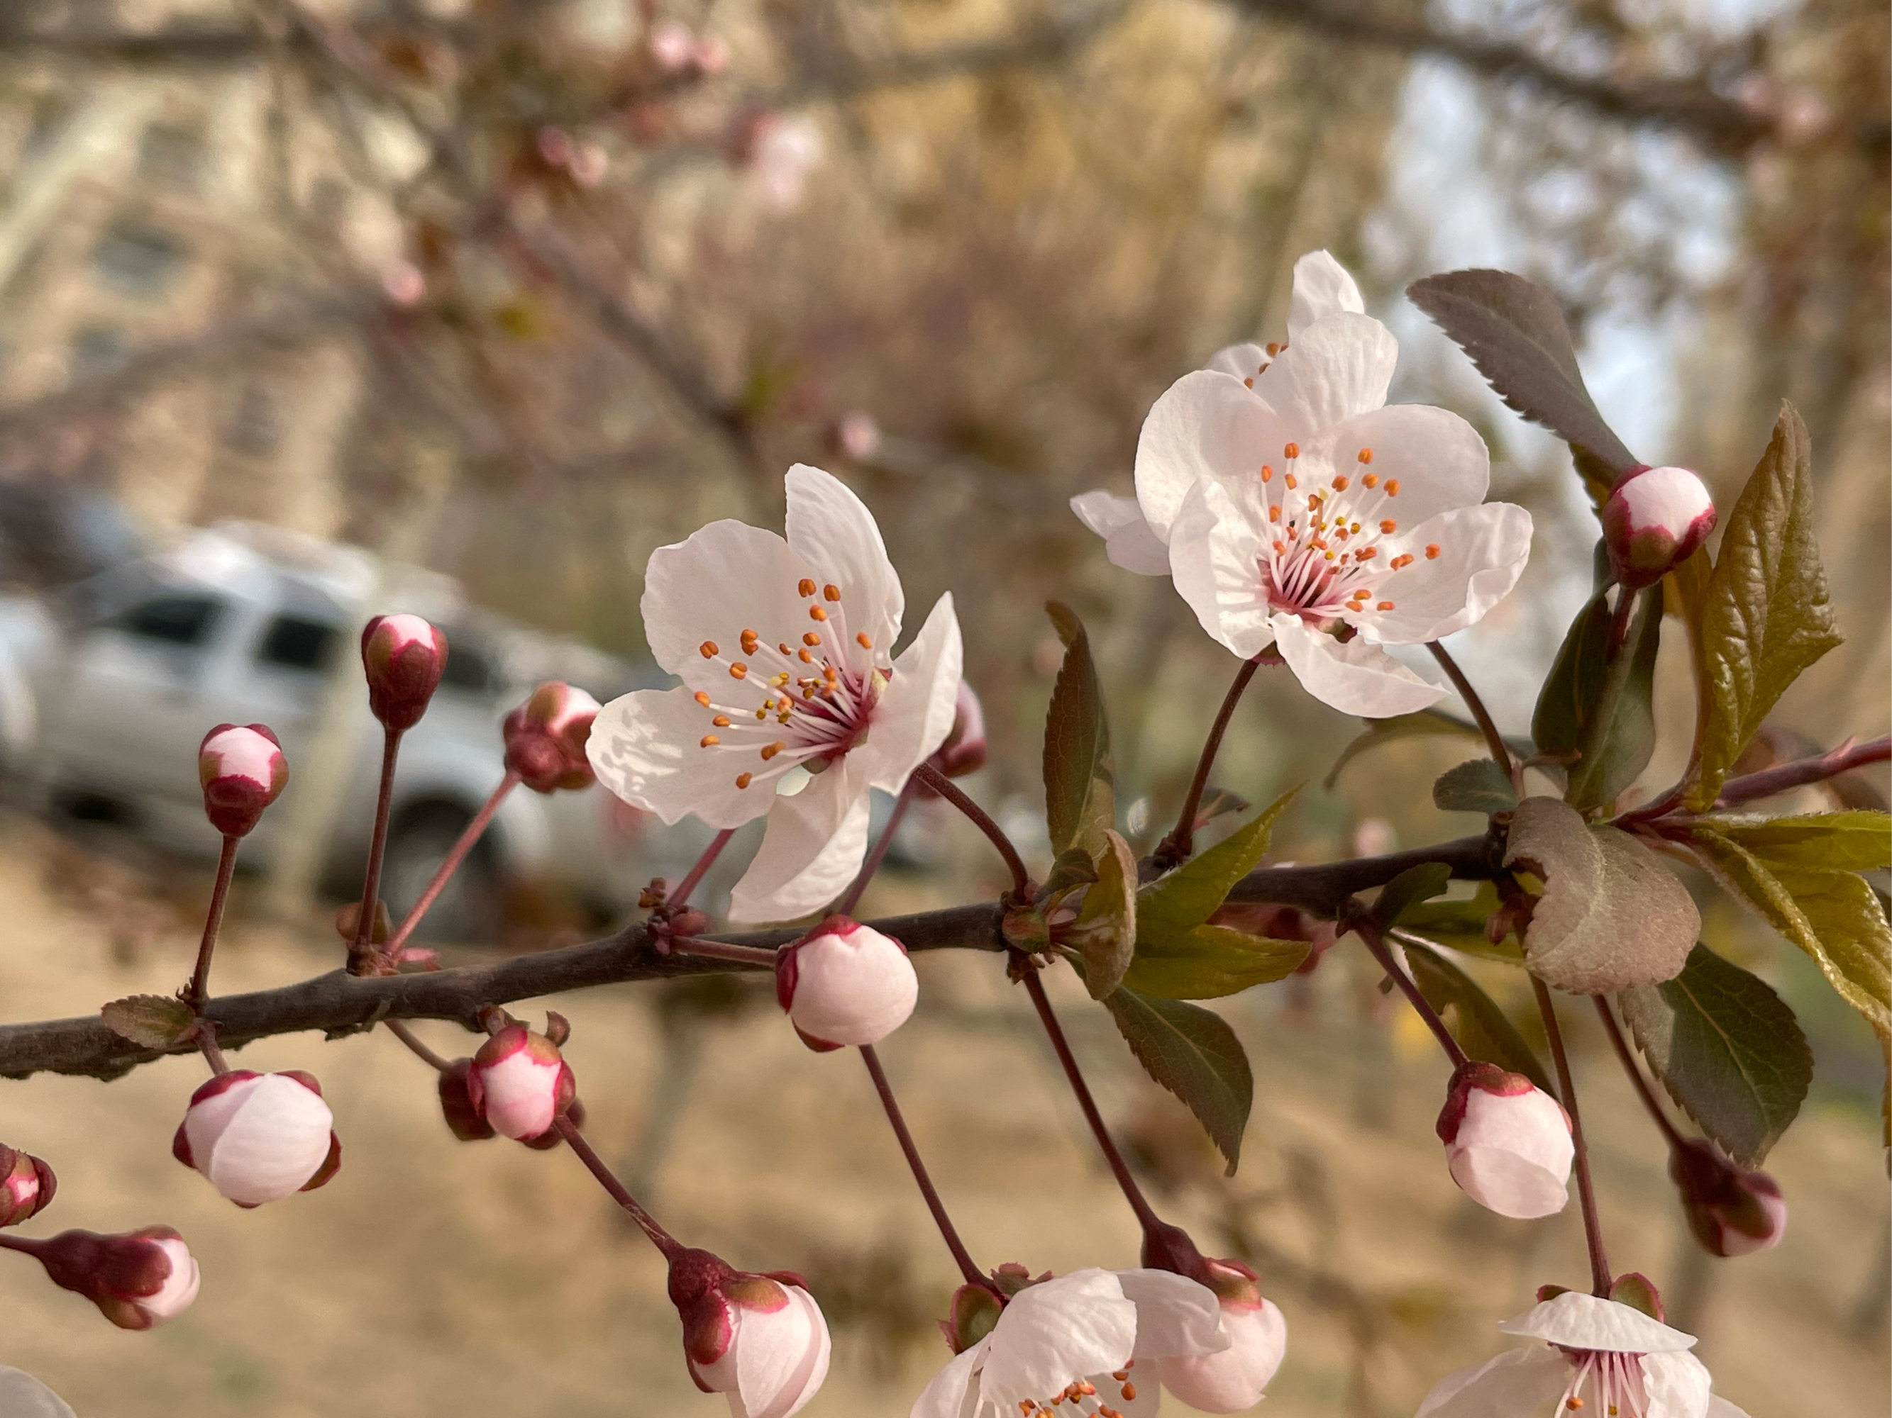
<path fill-rule="evenodd" d="M 1708 1392 L 1693 1335 L 1631 1305 L 1567 1289 L 1498 1329 L 1546 1344 L 1447 1375 L 1413 1418 L 1748 1418 Z"/>

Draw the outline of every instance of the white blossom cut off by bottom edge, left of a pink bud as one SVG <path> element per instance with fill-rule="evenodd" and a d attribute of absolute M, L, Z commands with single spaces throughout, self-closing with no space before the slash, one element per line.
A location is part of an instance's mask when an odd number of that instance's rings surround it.
<path fill-rule="evenodd" d="M 1156 1365 L 1230 1346 L 1207 1286 L 1169 1271 L 1073 1271 L 1025 1286 L 933 1376 L 912 1418 L 1148 1418 Z M 1148 1365 L 1139 1376 L 1137 1363 Z"/>

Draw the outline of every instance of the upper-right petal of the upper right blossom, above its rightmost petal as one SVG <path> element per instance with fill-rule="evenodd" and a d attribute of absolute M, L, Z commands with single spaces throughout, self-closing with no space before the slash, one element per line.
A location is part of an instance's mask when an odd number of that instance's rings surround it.
<path fill-rule="evenodd" d="M 1268 391 L 1273 391 L 1273 384 Z M 1323 429 L 1304 446 L 1326 452 L 1334 469 L 1358 478 L 1372 473 L 1385 493 L 1374 518 L 1396 518 L 1402 527 L 1455 507 L 1476 507 L 1491 486 L 1491 450 L 1478 429 L 1449 408 L 1387 405 Z M 1360 467 L 1360 450 L 1372 467 Z"/>

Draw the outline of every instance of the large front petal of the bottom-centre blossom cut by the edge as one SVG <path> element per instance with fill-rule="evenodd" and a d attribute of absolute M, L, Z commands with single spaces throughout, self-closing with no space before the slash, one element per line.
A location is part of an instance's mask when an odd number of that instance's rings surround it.
<path fill-rule="evenodd" d="M 1137 1342 L 1137 1306 L 1109 1271 L 1027 1286 L 999 1314 L 980 1375 L 980 1397 L 1016 1410 L 1050 1403 L 1065 1386 L 1124 1367 Z"/>

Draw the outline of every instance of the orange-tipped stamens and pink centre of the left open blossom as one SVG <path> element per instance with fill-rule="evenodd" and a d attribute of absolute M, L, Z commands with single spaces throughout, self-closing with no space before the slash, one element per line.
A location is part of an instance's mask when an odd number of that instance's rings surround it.
<path fill-rule="evenodd" d="M 885 654 L 876 652 L 867 631 L 848 633 L 840 586 L 817 586 L 802 577 L 795 592 L 806 620 L 791 637 L 776 639 L 740 626 L 734 639 L 740 658 L 717 641 L 696 647 L 730 679 L 728 703 L 696 690 L 696 703 L 710 711 L 708 732 L 696 747 L 753 754 L 757 764 L 736 773 L 738 788 L 778 779 L 791 768 L 819 773 L 863 743 L 893 675 L 891 662 L 884 664 Z"/>

